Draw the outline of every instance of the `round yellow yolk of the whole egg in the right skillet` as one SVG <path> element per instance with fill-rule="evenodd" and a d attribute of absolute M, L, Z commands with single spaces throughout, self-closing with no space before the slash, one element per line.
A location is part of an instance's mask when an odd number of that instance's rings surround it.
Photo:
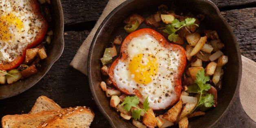
<path fill-rule="evenodd" d="M 136 82 L 148 84 L 157 74 L 157 58 L 152 54 L 138 54 L 130 60 L 129 71 Z"/>

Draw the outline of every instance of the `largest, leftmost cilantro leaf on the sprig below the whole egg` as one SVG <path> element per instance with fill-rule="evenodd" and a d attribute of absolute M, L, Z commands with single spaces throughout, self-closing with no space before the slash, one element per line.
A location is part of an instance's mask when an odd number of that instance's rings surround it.
<path fill-rule="evenodd" d="M 130 111 L 131 107 L 137 107 L 137 104 L 139 104 L 139 98 L 137 96 L 127 96 L 121 105 L 124 105 L 125 110 Z"/>

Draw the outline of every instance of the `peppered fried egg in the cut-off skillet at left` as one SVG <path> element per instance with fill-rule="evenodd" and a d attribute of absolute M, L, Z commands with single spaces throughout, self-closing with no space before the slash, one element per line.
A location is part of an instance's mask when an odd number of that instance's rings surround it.
<path fill-rule="evenodd" d="M 12 62 L 41 38 L 47 24 L 36 4 L 36 0 L 0 1 L 0 63 Z"/>

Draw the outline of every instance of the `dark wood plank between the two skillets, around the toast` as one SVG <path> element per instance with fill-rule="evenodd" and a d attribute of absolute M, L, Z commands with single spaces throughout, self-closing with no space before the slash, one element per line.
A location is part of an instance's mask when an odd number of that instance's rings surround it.
<path fill-rule="evenodd" d="M 69 31 L 64 34 L 65 48 L 62 56 L 51 70 L 29 90 L 20 95 L 0 101 L 0 119 L 4 115 L 28 113 L 37 97 L 45 95 L 62 108 L 88 106 L 93 108 L 95 118 L 92 127 L 108 127 L 108 121 L 98 110 L 88 85 L 86 75 L 69 66 L 79 46 L 89 31 Z"/>

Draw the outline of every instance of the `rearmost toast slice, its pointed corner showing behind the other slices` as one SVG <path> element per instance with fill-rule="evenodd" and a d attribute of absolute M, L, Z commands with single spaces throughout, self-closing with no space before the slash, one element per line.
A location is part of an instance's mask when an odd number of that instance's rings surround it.
<path fill-rule="evenodd" d="M 47 110 L 60 110 L 62 109 L 58 104 L 56 104 L 52 99 L 49 99 L 46 96 L 40 96 L 38 99 L 36 99 L 36 102 L 29 112 L 29 114 L 38 113 L 41 111 L 47 111 Z"/>

